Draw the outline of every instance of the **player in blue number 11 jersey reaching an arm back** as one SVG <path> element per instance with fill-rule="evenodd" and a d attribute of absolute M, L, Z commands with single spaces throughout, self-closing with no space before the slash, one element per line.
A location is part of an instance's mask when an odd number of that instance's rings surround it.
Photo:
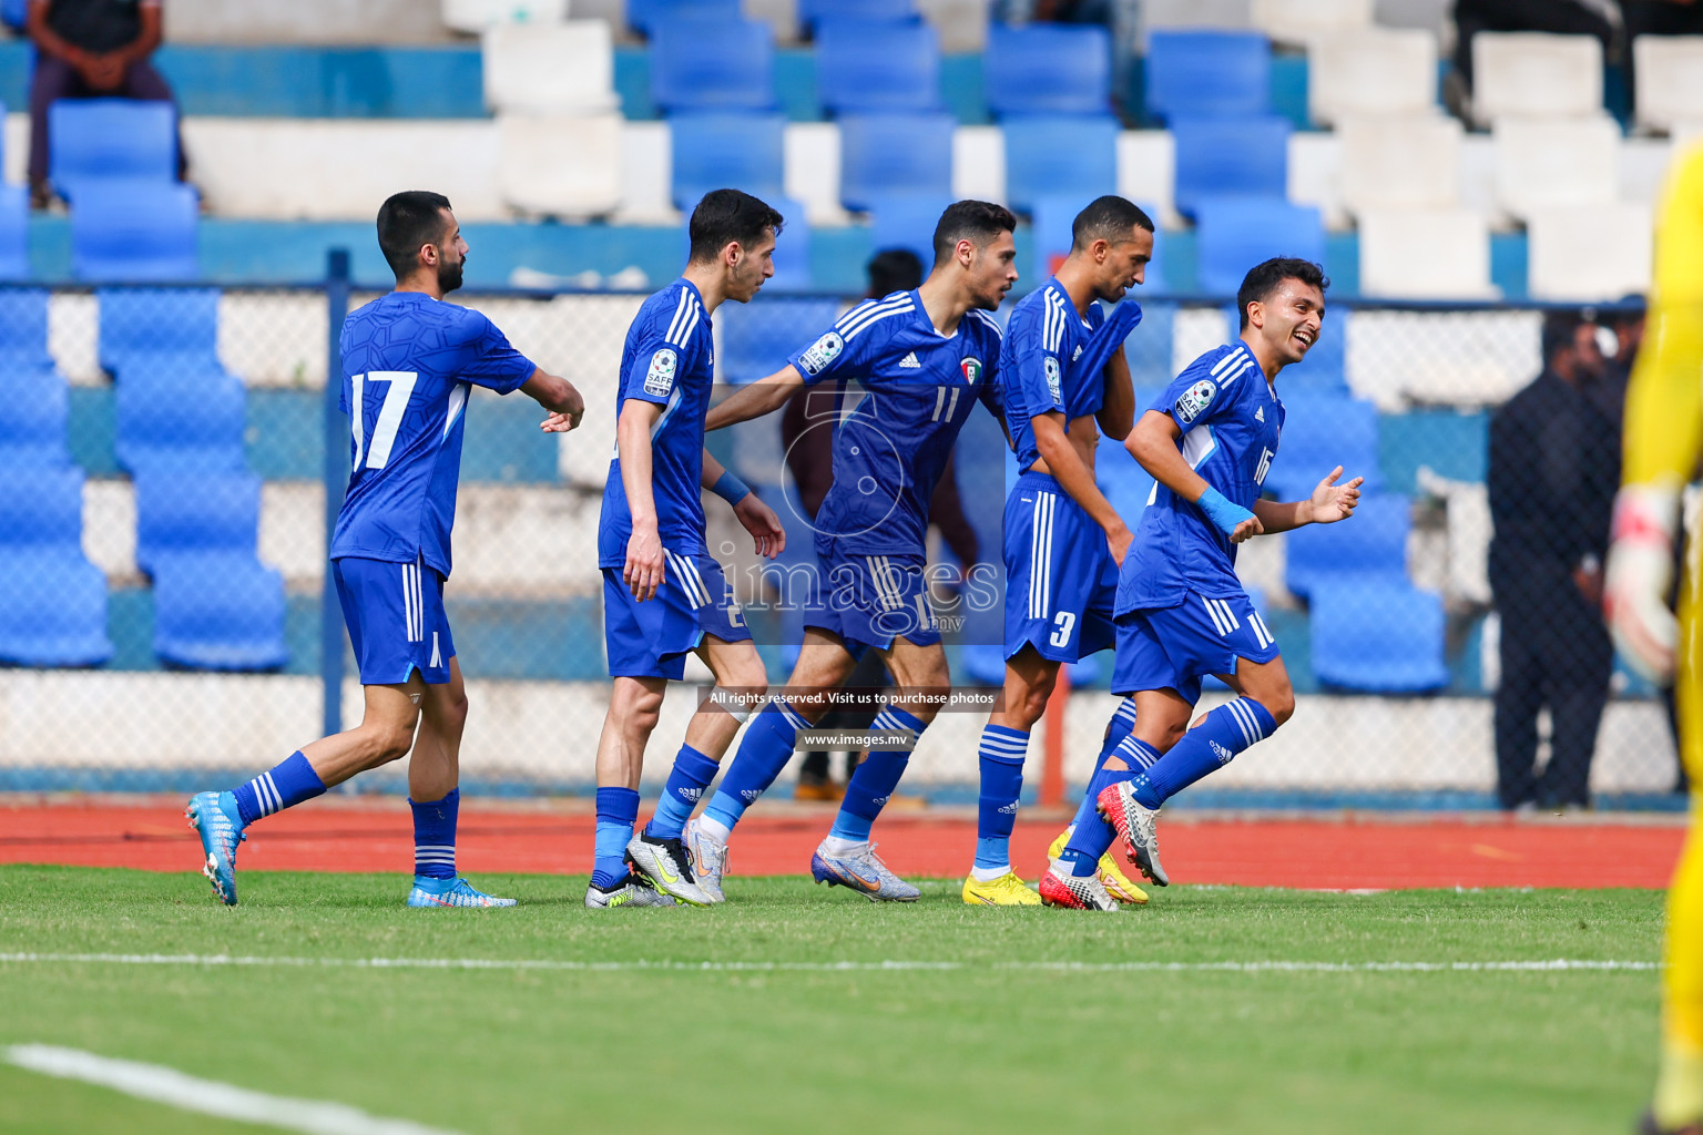
<path fill-rule="evenodd" d="M 720 880 L 734 824 L 780 776 L 797 732 L 828 711 L 826 694 L 874 648 L 899 691 L 870 728 L 901 747 L 875 747 L 852 774 L 811 873 L 872 902 L 920 893 L 887 870 L 869 836 L 904 774 L 911 744 L 950 689 L 928 599 L 928 500 L 974 405 L 1000 412 L 1000 327 L 989 311 L 1017 281 L 1015 228 L 998 204 L 949 206 L 935 226 L 935 265 L 916 291 L 860 303 L 785 368 L 710 410 L 707 427 L 720 429 L 778 410 L 799 386 L 862 386 L 834 429 L 834 480 L 814 521 L 826 585 L 806 601 L 804 643 L 787 694 L 751 720 L 714 800 L 686 830 L 700 876 Z"/>

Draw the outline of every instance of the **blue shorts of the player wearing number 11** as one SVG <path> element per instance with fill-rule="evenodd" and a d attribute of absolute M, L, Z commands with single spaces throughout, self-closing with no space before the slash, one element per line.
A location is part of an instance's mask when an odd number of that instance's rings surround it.
<path fill-rule="evenodd" d="M 916 555 L 853 555 L 845 541 L 819 536 L 816 558 L 821 585 L 804 611 L 804 625 L 831 631 L 862 657 L 889 650 L 896 638 L 916 647 L 940 642 L 940 623 L 928 599 L 926 558 Z"/>

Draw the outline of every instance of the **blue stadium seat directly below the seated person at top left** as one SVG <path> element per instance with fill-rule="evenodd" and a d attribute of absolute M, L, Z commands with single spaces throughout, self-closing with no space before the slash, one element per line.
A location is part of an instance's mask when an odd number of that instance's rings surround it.
<path fill-rule="evenodd" d="M 48 109 L 48 177 L 77 204 L 83 182 L 177 177 L 177 111 L 170 102 L 60 99 Z"/>

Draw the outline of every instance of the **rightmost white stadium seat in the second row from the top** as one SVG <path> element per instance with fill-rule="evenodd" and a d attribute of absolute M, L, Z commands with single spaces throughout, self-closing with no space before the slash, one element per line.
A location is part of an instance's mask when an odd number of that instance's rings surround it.
<path fill-rule="evenodd" d="M 1505 117 L 1495 140 L 1497 204 L 1524 220 L 1557 204 L 1608 204 L 1620 192 L 1620 126 L 1594 117 Z"/>

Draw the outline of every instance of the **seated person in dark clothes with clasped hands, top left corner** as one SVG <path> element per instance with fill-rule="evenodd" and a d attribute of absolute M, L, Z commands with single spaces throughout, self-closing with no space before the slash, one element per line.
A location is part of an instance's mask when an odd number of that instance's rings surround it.
<path fill-rule="evenodd" d="M 172 88 L 148 56 L 160 46 L 160 0 L 29 0 L 26 24 L 36 44 L 29 87 L 29 201 L 43 209 L 48 187 L 48 107 L 58 99 L 172 102 Z M 177 143 L 177 175 L 184 146 Z"/>

